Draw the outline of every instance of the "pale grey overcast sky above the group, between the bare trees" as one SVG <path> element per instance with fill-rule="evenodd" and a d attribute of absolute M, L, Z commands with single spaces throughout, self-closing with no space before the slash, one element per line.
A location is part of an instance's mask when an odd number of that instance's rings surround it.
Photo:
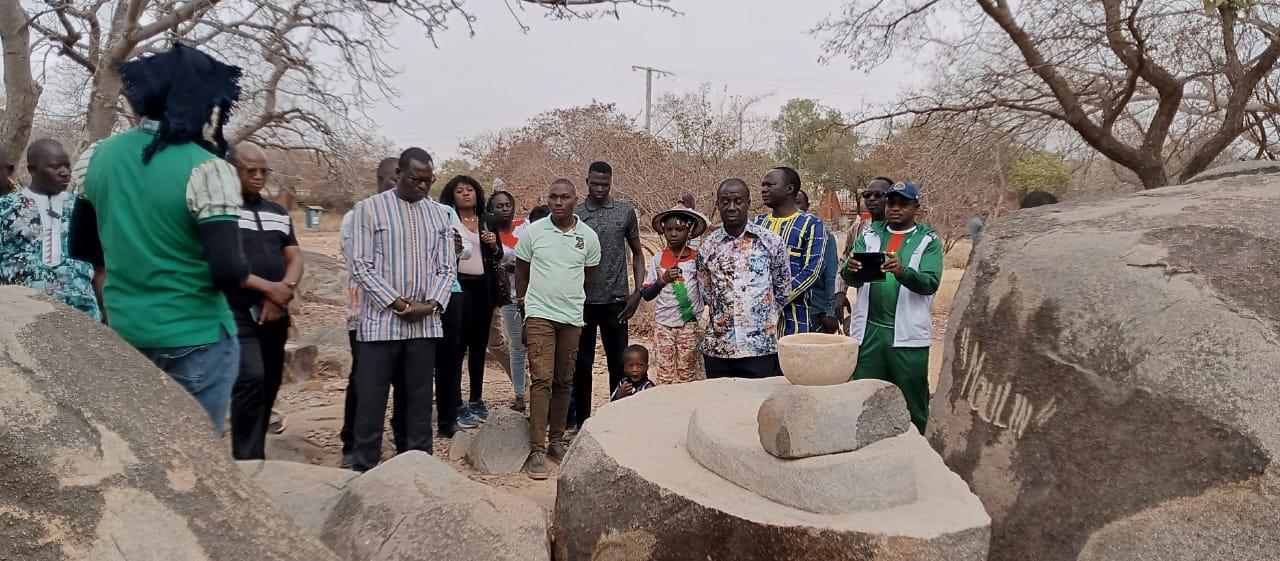
<path fill-rule="evenodd" d="M 840 4 L 672 0 L 682 15 L 631 8 L 621 19 L 567 22 L 530 8 L 520 13 L 530 27 L 522 32 L 504 1 L 468 3 L 475 37 L 454 23 L 433 47 L 413 26 L 397 29 L 390 63 L 402 70 L 393 82 L 399 108 L 383 104 L 375 118 L 398 147 L 419 145 L 449 158 L 461 140 L 593 100 L 643 119 L 644 73 L 631 65 L 676 74 L 655 79 L 655 100 L 709 83 L 717 94 L 726 87 L 730 95 L 772 94 L 758 105 L 762 113 L 792 97 L 856 111 L 924 79 L 910 64 L 890 63 L 870 74 L 841 60 L 820 64 L 820 41 L 808 29 Z"/>

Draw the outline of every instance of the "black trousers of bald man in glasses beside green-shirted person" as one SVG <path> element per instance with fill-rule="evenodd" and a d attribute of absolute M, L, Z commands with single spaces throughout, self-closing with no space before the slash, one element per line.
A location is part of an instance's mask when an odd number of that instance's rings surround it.
<path fill-rule="evenodd" d="M 289 320 L 259 325 L 248 310 L 236 310 L 236 327 L 241 345 L 241 369 L 232 388 L 232 457 L 264 460 L 266 427 L 271 423 L 271 406 L 280 393 L 280 379 L 284 375 L 284 343 L 289 338 Z"/>

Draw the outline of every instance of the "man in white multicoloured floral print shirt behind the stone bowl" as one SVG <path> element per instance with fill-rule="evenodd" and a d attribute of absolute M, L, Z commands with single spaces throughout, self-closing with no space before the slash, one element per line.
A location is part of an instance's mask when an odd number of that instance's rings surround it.
<path fill-rule="evenodd" d="M 698 274 L 710 307 L 703 361 L 707 378 L 778 375 L 778 319 L 791 295 L 787 247 L 750 224 L 751 190 L 726 179 L 716 191 L 723 225 L 703 237 Z"/>

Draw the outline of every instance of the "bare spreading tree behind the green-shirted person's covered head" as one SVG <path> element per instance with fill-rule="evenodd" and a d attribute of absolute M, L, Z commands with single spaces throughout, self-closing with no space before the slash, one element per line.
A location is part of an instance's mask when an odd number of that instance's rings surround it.
<path fill-rule="evenodd" d="M 550 17 L 593 17 L 600 4 L 666 8 L 664 0 L 525 0 Z M 276 147 L 329 151 L 343 136 L 367 132 L 365 111 L 390 102 L 394 76 L 383 60 L 392 31 L 416 23 L 428 37 L 475 18 L 457 0 L 0 0 L 5 47 L 5 122 L 0 146 L 22 147 L 41 90 L 33 78 L 52 55 L 59 81 L 83 81 L 82 142 L 110 134 L 131 118 L 118 65 L 174 41 L 204 46 L 246 69 L 230 136 Z M 31 37 L 35 36 L 35 41 Z M 37 72 L 40 70 L 40 72 Z"/>

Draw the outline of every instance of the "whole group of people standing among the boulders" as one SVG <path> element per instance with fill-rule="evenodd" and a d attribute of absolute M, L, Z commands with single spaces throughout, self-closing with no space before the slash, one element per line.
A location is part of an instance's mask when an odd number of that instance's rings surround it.
<path fill-rule="evenodd" d="M 28 149 L 31 184 L 0 197 L 0 283 L 108 323 L 195 397 L 218 434 L 229 416 L 234 457 L 262 459 L 303 263 L 289 213 L 261 195 L 268 154 L 223 137 L 239 72 L 175 45 L 122 74 L 136 128 L 74 165 L 58 142 Z M 596 338 L 618 400 L 778 375 L 780 337 L 844 330 L 861 343 L 851 378 L 897 384 L 924 429 L 942 247 L 915 222 L 910 182 L 877 178 L 861 191 L 870 215 L 838 255 L 796 170 L 763 175 L 768 211 L 758 215 L 755 188 L 730 178 L 714 190 L 714 228 L 692 195 L 652 218 L 666 242 L 652 259 L 639 213 L 611 195 L 607 163 L 586 170 L 585 199 L 556 179 L 529 216 L 475 178 L 451 178 L 433 200 L 435 183 L 431 155 L 404 150 L 380 163 L 376 193 L 342 222 L 352 350 L 343 466 L 376 466 L 388 397 L 397 452 L 433 451 L 433 405 L 444 437 L 484 423 L 493 356 L 509 406 L 529 412 L 529 475 L 547 478 L 591 415 Z M 884 254 L 883 280 L 860 280 L 867 252 Z M 654 302 L 653 379 L 650 350 L 628 336 L 641 301 Z"/>

